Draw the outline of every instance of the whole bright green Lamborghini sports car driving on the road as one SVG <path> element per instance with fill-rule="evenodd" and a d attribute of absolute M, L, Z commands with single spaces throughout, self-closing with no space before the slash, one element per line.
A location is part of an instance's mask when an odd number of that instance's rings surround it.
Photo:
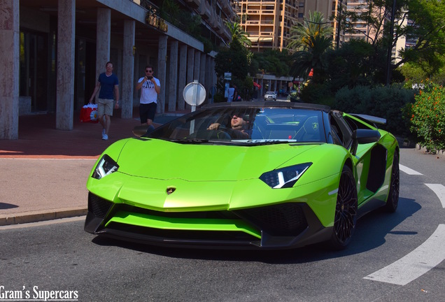
<path fill-rule="evenodd" d="M 216 103 L 107 148 L 85 231 L 177 247 L 346 247 L 358 217 L 399 199 L 383 119 L 290 102 Z"/>

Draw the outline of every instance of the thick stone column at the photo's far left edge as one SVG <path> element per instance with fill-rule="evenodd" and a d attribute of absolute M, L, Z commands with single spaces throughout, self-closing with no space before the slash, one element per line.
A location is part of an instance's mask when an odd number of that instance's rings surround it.
<path fill-rule="evenodd" d="M 1 1 L 0 139 L 18 139 L 20 3 Z"/>

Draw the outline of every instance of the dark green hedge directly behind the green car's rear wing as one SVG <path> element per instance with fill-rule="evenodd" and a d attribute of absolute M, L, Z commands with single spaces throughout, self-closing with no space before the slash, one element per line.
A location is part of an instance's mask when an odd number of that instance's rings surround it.
<path fill-rule="evenodd" d="M 409 136 L 409 118 L 404 115 L 407 103 L 414 103 L 414 92 L 396 84 L 390 87 L 344 87 L 335 94 L 334 108 L 346 113 L 361 113 L 386 119 L 382 129 L 394 135 Z"/>

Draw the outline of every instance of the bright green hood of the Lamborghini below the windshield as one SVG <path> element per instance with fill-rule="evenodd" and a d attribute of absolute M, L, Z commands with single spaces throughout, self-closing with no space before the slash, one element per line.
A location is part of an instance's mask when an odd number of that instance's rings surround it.
<path fill-rule="evenodd" d="M 120 173 L 159 180 L 236 181 L 258 178 L 318 145 L 194 145 L 132 138 L 119 157 Z M 308 154 L 309 156 L 309 154 Z M 302 158 L 306 160 L 307 158 Z"/>

